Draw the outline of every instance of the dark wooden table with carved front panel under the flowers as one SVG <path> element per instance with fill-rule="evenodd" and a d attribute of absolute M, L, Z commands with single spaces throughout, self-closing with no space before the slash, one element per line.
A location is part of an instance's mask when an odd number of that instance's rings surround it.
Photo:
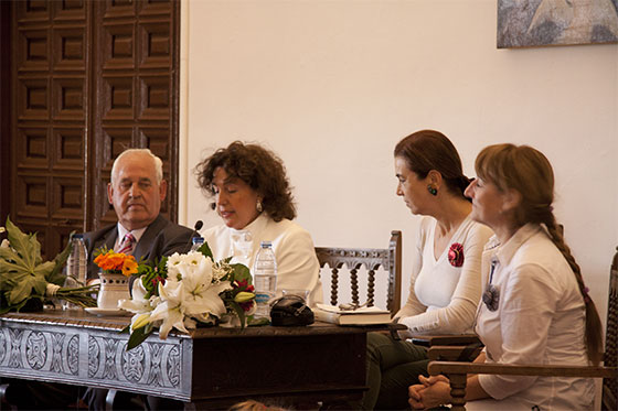
<path fill-rule="evenodd" d="M 128 322 L 82 311 L 4 314 L 0 376 L 173 398 L 188 409 L 247 398 L 354 401 L 366 389 L 371 327 L 210 327 L 153 334 L 126 351 L 128 334 L 118 332 Z"/>

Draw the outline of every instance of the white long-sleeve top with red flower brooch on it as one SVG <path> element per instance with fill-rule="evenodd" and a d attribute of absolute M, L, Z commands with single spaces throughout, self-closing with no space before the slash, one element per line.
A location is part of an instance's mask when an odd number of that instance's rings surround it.
<path fill-rule="evenodd" d="M 443 253 L 435 256 L 436 224 L 431 217 L 420 221 L 409 294 L 396 317 L 409 334 L 471 332 L 481 298 L 481 253 L 492 231 L 467 217 Z M 461 267 L 454 267 L 448 260 L 448 250 L 455 242 L 464 247 Z"/>

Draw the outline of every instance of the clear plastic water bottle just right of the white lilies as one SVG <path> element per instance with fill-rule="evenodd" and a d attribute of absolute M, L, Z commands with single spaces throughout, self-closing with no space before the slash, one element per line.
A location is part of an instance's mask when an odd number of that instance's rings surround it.
<path fill-rule="evenodd" d="M 256 318 L 269 318 L 270 305 L 268 303 L 275 296 L 275 290 L 277 289 L 277 261 L 270 241 L 262 241 L 255 258 L 253 277 L 255 302 L 257 303 L 254 316 Z"/>

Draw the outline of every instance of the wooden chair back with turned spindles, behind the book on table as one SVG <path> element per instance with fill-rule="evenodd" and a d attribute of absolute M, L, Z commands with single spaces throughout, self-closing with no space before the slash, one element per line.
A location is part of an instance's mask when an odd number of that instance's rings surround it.
<path fill-rule="evenodd" d="M 340 270 L 349 270 L 352 303 L 374 305 L 376 271 L 387 273 L 386 305 L 392 315 L 399 311 L 402 302 L 402 231 L 391 231 L 388 248 L 332 248 L 316 247 L 320 268 L 327 264 L 331 271 L 330 304 L 337 305 L 340 294 Z M 367 270 L 366 300 L 359 295 L 359 269 Z M 379 272 L 380 272 L 379 271 Z M 348 302 L 348 301 L 345 301 Z"/>

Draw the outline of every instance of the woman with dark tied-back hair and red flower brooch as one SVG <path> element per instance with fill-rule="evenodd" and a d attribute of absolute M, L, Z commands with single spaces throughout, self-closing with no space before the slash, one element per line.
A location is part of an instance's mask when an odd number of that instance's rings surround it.
<path fill-rule="evenodd" d="M 396 314 L 409 334 L 472 331 L 481 296 L 481 252 L 491 230 L 470 219 L 469 184 L 457 150 L 443 133 L 417 131 L 395 147 L 397 195 L 420 221 L 406 304 Z M 426 374 L 423 347 L 371 333 L 364 409 L 405 409 L 407 387 Z"/>

